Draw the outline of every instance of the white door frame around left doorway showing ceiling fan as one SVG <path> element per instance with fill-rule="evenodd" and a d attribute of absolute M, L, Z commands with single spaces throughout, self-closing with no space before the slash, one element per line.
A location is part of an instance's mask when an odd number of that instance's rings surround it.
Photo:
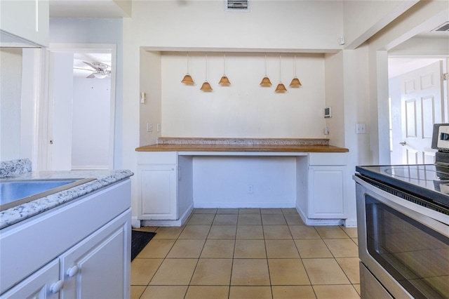
<path fill-rule="evenodd" d="M 109 113 L 109 153 L 108 153 L 108 168 L 114 169 L 114 142 L 115 142 L 115 115 L 116 115 L 116 44 L 60 44 L 60 43 L 50 43 L 47 49 L 45 61 L 45 86 L 48 86 L 46 92 L 43 94 L 43 101 L 41 102 L 41 107 L 46 109 L 46 112 L 41 114 L 44 119 L 41 119 L 41 124 L 46 123 L 46 130 L 41 131 L 41 136 L 39 140 L 40 148 L 39 151 L 39 165 L 43 166 L 45 169 L 41 170 L 51 170 L 51 153 L 52 148 L 50 146 L 52 119 L 51 119 L 51 109 L 53 109 L 52 99 L 50 94 L 53 91 L 53 81 L 50 79 L 50 67 L 48 66 L 48 55 L 52 53 L 95 53 L 95 51 L 111 51 L 111 92 L 110 92 L 110 113 Z"/>

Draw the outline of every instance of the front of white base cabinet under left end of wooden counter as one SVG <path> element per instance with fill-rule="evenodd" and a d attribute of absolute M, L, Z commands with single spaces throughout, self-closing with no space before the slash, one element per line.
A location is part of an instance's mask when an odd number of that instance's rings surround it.
<path fill-rule="evenodd" d="M 177 220 L 177 153 L 139 153 L 138 218 Z"/>

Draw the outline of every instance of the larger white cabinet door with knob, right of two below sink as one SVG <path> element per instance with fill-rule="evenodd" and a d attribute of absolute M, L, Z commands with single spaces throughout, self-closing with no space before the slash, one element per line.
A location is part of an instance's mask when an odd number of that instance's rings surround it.
<path fill-rule="evenodd" d="M 128 209 L 61 255 L 62 298 L 130 297 L 130 219 Z"/>

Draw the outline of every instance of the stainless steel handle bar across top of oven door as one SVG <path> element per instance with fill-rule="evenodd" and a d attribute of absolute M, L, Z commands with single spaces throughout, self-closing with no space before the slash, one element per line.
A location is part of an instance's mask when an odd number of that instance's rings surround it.
<path fill-rule="evenodd" d="M 374 197 L 377 201 L 380 201 L 382 204 L 386 204 L 396 211 L 400 211 L 408 217 L 413 218 L 428 227 L 432 227 L 432 229 L 449 237 L 449 215 L 439 213 L 430 208 L 425 208 L 424 206 L 414 204 L 406 199 L 401 199 L 401 197 L 389 194 L 388 192 L 370 185 L 356 175 L 354 175 L 353 178 L 358 184 L 363 186 L 366 194 L 370 194 L 370 196 Z"/>

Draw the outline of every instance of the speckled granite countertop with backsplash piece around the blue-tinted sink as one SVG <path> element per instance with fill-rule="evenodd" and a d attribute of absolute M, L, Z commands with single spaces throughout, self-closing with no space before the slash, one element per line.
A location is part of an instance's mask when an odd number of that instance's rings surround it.
<path fill-rule="evenodd" d="M 29 166 L 28 166 L 29 165 Z M 83 185 L 57 192 L 26 204 L 8 208 L 0 212 L 0 229 L 13 225 L 34 215 L 48 211 L 69 201 L 100 190 L 120 180 L 125 180 L 133 175 L 128 170 L 112 171 L 39 171 L 32 172 L 31 164 L 27 159 L 20 159 L 0 164 L 0 182 L 11 180 L 35 180 L 35 179 L 65 179 L 65 178 L 95 178 Z"/>

